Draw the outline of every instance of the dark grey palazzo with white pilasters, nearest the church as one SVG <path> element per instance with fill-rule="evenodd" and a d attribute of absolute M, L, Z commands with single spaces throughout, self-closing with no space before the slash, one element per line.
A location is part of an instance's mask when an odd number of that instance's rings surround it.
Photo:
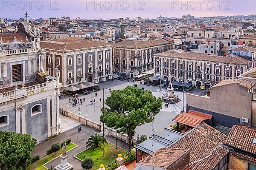
<path fill-rule="evenodd" d="M 55 69 L 63 87 L 112 79 L 112 45 L 68 37 L 41 41 L 41 47 L 47 52 L 45 71 L 52 76 Z"/>

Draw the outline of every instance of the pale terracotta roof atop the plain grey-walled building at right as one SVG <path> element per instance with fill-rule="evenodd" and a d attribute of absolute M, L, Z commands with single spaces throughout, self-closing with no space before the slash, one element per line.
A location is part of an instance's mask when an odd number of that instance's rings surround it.
<path fill-rule="evenodd" d="M 230 85 L 230 84 L 234 84 L 234 83 L 237 83 L 237 84 L 239 84 L 245 88 L 248 88 L 248 89 L 251 89 L 255 85 L 254 82 L 247 81 L 246 79 L 228 79 L 228 80 L 222 80 L 218 84 L 212 86 L 212 88 L 220 87 L 223 85 Z"/>

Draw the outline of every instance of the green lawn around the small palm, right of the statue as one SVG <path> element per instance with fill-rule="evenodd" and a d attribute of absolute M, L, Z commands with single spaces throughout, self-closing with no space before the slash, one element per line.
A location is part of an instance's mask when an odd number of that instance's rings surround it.
<path fill-rule="evenodd" d="M 77 154 L 76 157 L 81 160 L 84 160 L 85 157 L 91 157 L 94 161 L 94 165 L 91 170 L 97 170 L 99 169 L 100 164 L 104 164 L 104 166 L 107 166 L 108 164 L 111 164 L 113 161 L 115 161 L 119 153 L 125 155 L 126 153 L 128 153 L 128 151 L 120 147 L 116 148 L 115 145 L 108 143 L 105 145 L 105 156 L 103 156 L 103 151 L 101 148 L 96 148 L 94 150 L 88 148 L 83 152 Z"/>

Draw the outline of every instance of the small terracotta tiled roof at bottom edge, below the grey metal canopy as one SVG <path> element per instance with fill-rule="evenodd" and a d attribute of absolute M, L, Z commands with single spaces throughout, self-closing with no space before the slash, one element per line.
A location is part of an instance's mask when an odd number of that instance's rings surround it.
<path fill-rule="evenodd" d="M 187 149 L 177 148 L 160 148 L 151 155 L 142 159 L 139 164 L 147 165 L 151 167 L 160 167 L 162 169 L 168 169 L 168 167 L 180 158 L 183 154 L 189 152 Z"/>

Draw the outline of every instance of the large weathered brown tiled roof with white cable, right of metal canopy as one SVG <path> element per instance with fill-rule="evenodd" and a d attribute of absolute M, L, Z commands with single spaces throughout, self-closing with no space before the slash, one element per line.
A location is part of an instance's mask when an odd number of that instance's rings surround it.
<path fill-rule="evenodd" d="M 202 123 L 195 127 L 177 142 L 171 144 L 170 147 L 189 149 L 190 150 L 190 163 L 205 158 L 224 142 L 226 135 L 213 127 Z M 212 170 L 218 163 L 229 153 L 226 147 L 218 147 L 217 150 L 202 161 L 190 164 L 190 170 Z"/>

